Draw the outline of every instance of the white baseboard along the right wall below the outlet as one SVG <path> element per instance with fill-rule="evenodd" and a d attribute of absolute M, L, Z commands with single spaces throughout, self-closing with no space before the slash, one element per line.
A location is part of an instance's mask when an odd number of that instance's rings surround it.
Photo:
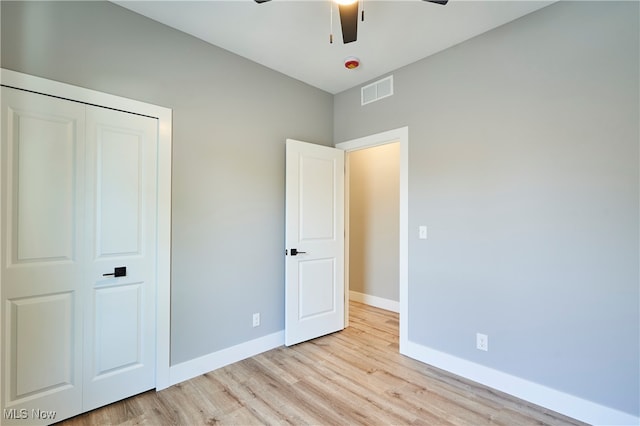
<path fill-rule="evenodd" d="M 401 353 L 425 364 L 473 380 L 525 401 L 592 425 L 638 425 L 640 418 L 528 380 L 494 370 L 415 342 L 403 342 Z"/>

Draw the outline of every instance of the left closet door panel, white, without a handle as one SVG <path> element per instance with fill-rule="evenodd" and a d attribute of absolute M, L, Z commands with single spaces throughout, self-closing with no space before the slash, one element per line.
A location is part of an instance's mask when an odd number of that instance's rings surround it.
<path fill-rule="evenodd" d="M 51 423 L 82 404 L 84 105 L 1 90 L 1 423 Z"/>

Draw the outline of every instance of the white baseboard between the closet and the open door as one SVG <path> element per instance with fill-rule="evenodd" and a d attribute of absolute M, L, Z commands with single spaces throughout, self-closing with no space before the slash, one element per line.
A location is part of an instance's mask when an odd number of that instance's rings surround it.
<path fill-rule="evenodd" d="M 284 331 L 250 340 L 218 352 L 172 365 L 169 368 L 169 381 L 171 385 L 175 385 L 282 345 L 284 345 Z"/>

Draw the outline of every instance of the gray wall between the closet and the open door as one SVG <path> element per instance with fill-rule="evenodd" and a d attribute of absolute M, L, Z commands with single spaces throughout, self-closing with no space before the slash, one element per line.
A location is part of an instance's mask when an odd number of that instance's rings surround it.
<path fill-rule="evenodd" d="M 332 96 L 111 3 L 1 7 L 3 68 L 173 108 L 172 364 L 281 331 L 284 141 L 331 144 Z"/>

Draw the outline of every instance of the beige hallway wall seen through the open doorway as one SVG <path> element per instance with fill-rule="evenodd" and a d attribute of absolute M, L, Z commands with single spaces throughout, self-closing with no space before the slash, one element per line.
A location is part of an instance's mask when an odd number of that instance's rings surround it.
<path fill-rule="evenodd" d="M 349 290 L 399 300 L 400 143 L 348 153 Z"/>

